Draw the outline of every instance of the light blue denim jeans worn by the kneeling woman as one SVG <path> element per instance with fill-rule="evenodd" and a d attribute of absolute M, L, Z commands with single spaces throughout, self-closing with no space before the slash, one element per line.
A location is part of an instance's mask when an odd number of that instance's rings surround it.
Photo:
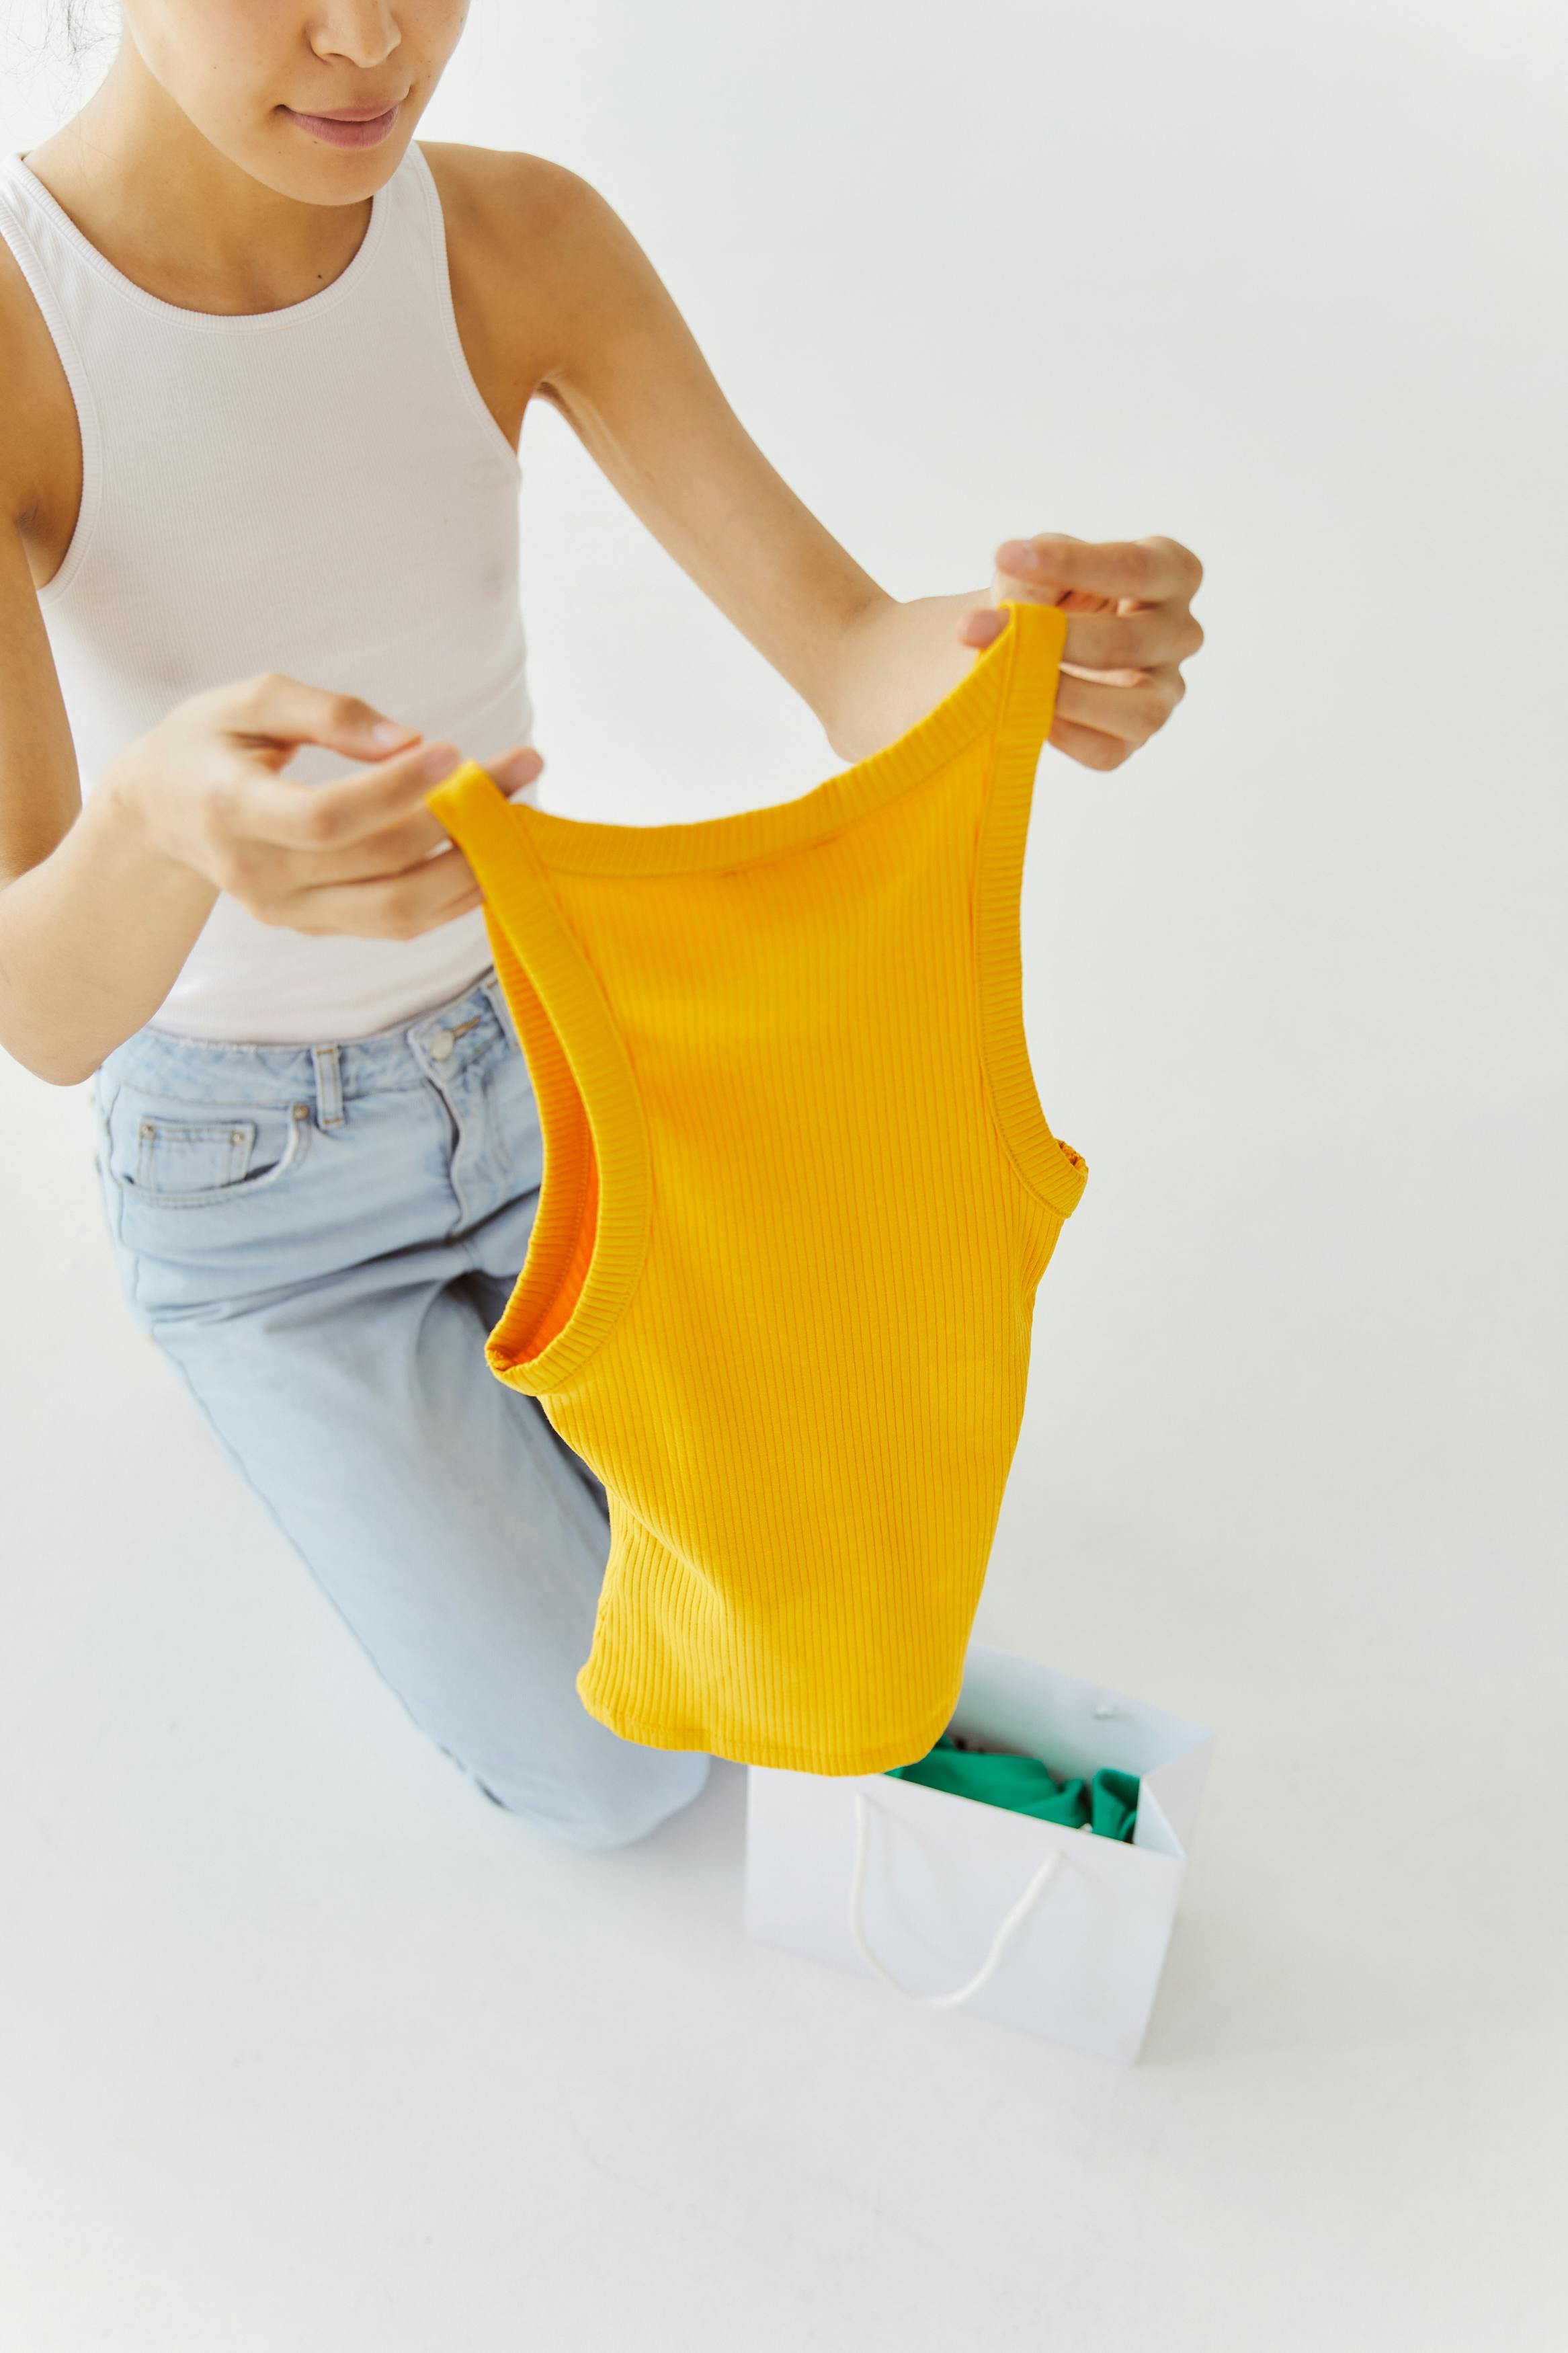
<path fill-rule="evenodd" d="M 623 1741 L 576 1694 L 604 1487 L 484 1360 L 543 1179 L 494 967 L 371 1038 L 141 1028 L 94 1104 L 132 1315 L 414 1722 L 583 1847 L 696 1798 L 703 1751 Z"/>

